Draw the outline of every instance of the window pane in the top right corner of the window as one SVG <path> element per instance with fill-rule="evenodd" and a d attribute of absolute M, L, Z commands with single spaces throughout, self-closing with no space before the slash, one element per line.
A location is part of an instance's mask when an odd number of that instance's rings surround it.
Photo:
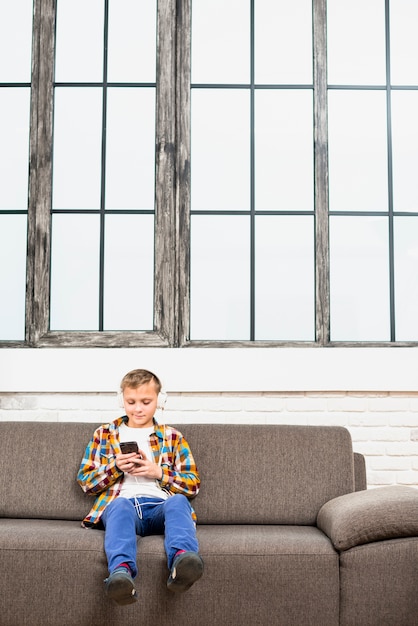
<path fill-rule="evenodd" d="M 418 84 L 418 3 L 396 0 L 390 3 L 390 67 L 392 84 Z"/>

